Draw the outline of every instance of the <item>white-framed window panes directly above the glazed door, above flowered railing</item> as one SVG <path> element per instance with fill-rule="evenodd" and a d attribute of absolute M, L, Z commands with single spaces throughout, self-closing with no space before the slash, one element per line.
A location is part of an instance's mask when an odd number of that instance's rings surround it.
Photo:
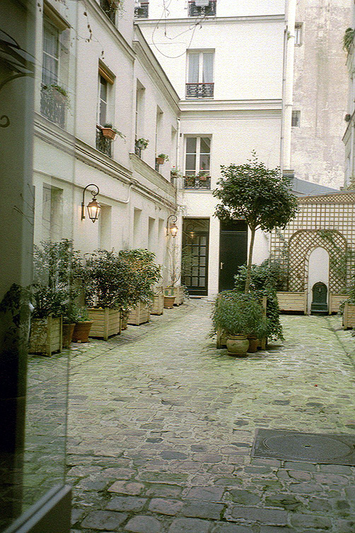
<path fill-rule="evenodd" d="M 186 137 L 185 176 L 209 176 L 211 138 Z"/>

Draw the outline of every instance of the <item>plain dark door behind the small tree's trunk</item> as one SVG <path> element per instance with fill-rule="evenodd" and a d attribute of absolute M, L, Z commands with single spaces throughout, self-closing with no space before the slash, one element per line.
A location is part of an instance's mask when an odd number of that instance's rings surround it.
<path fill-rule="evenodd" d="M 247 262 L 248 227 L 245 222 L 221 222 L 219 238 L 219 290 L 234 288 L 238 267 Z"/>

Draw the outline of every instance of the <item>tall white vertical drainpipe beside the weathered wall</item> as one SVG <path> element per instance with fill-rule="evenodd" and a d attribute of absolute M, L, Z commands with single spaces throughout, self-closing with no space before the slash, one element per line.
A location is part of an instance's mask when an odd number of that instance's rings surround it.
<path fill-rule="evenodd" d="M 282 132 L 284 137 L 282 169 L 291 168 L 291 121 L 293 105 L 293 64 L 295 57 L 296 0 L 289 0 L 286 21 L 286 76 L 284 84 L 284 116 Z"/>

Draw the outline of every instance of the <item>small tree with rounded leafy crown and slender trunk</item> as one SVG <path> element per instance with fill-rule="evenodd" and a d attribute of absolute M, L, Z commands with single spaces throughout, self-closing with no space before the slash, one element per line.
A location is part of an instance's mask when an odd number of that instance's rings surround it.
<path fill-rule="evenodd" d="M 215 216 L 220 220 L 244 219 L 250 229 L 246 294 L 250 285 L 255 231 L 284 228 L 296 216 L 297 200 L 291 193 L 290 178 L 280 176 L 278 168 L 267 168 L 257 159 L 255 151 L 248 163 L 221 166 L 221 173 L 213 191 L 214 197 L 221 200 Z"/>

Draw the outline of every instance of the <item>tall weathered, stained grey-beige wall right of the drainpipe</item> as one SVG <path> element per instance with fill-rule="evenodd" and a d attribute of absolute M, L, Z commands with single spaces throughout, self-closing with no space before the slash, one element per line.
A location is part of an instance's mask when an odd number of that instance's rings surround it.
<path fill-rule="evenodd" d="M 301 127 L 291 130 L 291 168 L 297 178 L 339 188 L 349 113 L 342 38 L 351 25 L 351 3 L 298 0 L 296 22 L 303 23 L 303 41 L 295 47 L 293 109 L 301 111 Z"/>

